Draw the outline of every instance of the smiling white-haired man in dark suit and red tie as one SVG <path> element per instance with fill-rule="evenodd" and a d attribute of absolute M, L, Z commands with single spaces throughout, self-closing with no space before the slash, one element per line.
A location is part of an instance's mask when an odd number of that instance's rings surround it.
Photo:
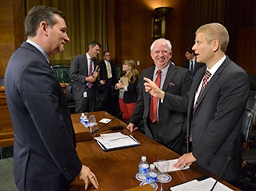
<path fill-rule="evenodd" d="M 141 86 L 138 94 L 138 101 L 134 113 L 130 118 L 127 129 L 134 131 L 138 129 L 138 123 L 143 118 L 145 133 L 162 145 L 173 149 L 177 153 L 182 153 L 182 145 L 186 134 L 186 112 L 177 112 L 175 109 L 166 109 L 162 106 L 162 101 L 157 103 L 157 119 L 152 120 L 154 104 L 152 97 L 144 90 L 143 78 L 157 79 L 157 71 L 161 70 L 160 89 L 170 94 L 184 96 L 190 90 L 190 71 L 182 67 L 174 66 L 170 62 L 172 57 L 171 44 L 169 40 L 160 38 L 155 40 L 150 47 L 150 55 L 154 61 L 154 67 L 142 71 Z"/>

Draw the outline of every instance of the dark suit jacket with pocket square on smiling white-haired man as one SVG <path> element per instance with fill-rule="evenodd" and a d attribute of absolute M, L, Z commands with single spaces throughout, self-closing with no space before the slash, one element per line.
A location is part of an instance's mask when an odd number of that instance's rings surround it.
<path fill-rule="evenodd" d="M 146 77 L 152 79 L 153 73 L 154 67 L 150 67 L 149 69 L 142 71 L 138 101 L 136 103 L 134 113 L 130 118 L 130 122 L 132 122 L 134 125 L 138 125 L 141 118 L 143 118 L 146 135 L 151 138 L 153 135 L 150 131 L 149 125 L 147 124 L 150 111 L 150 94 L 146 93 L 145 91 L 143 85 L 145 81 L 143 78 Z M 184 96 L 190 90 L 190 86 L 190 71 L 170 64 L 162 90 L 170 94 Z M 177 144 L 176 140 L 178 137 L 185 135 L 186 112 L 181 113 L 175 111 L 174 109 L 166 109 L 163 107 L 163 104 L 160 104 L 158 112 L 160 117 L 160 130 L 162 131 L 163 140 L 165 145 L 172 148 L 173 145 Z"/>

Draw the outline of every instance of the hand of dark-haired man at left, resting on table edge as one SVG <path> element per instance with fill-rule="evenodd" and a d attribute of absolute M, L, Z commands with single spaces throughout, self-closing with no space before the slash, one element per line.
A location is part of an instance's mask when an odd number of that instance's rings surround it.
<path fill-rule="evenodd" d="M 79 174 L 80 180 L 85 181 L 85 190 L 88 188 L 89 182 L 94 185 L 95 189 L 98 189 L 98 181 L 94 173 L 90 171 L 90 168 L 86 165 L 82 165 L 81 172 Z"/>

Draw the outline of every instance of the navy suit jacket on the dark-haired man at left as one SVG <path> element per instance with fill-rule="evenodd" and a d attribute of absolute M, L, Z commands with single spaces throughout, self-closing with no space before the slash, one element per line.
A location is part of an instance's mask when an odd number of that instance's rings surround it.
<path fill-rule="evenodd" d="M 25 56 L 26 55 L 26 56 Z M 5 73 L 19 190 L 67 190 L 82 164 L 65 95 L 43 54 L 23 42 Z"/>

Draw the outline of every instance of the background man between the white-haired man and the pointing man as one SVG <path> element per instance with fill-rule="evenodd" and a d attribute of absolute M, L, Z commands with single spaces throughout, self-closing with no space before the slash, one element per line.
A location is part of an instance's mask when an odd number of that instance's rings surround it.
<path fill-rule="evenodd" d="M 185 52 L 186 62 L 183 63 L 182 67 L 190 70 L 190 75 L 194 79 L 194 74 L 198 71 L 199 68 L 206 66 L 203 63 L 197 62 L 194 55 L 194 50 L 191 47 L 188 47 Z"/>

